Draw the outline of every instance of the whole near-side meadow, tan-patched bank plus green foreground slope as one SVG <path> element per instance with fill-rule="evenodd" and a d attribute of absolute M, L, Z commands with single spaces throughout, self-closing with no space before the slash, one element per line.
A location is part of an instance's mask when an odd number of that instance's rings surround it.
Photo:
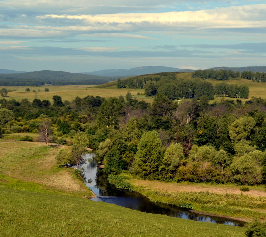
<path fill-rule="evenodd" d="M 71 169 L 58 167 L 60 147 L 0 140 L 0 230 L 3 236 L 244 237 L 245 228 L 183 220 L 94 202 Z"/>

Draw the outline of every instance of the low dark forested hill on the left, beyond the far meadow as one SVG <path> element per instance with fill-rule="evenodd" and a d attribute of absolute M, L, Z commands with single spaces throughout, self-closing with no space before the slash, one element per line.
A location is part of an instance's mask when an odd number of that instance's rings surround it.
<path fill-rule="evenodd" d="M 41 86 L 44 84 L 99 85 L 116 79 L 115 77 L 43 70 L 37 72 L 0 74 L 0 86 Z"/>

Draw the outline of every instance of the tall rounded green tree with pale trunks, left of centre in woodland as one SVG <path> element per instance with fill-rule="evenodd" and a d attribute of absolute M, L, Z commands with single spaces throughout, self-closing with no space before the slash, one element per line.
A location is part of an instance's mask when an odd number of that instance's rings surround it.
<path fill-rule="evenodd" d="M 118 118 L 122 115 L 123 111 L 123 104 L 118 98 L 112 97 L 107 99 L 99 107 L 97 122 L 103 127 L 116 127 Z"/>

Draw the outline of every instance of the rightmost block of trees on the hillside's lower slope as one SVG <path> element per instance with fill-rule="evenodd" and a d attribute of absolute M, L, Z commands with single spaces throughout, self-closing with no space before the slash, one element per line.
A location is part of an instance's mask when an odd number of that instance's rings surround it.
<path fill-rule="evenodd" d="M 233 98 L 249 98 L 249 88 L 237 84 L 218 83 L 214 87 L 214 94 Z"/>

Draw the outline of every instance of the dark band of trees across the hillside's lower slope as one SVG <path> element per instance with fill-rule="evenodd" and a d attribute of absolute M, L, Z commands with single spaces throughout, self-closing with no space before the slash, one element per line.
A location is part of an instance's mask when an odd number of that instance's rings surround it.
<path fill-rule="evenodd" d="M 199 77 L 199 75 L 196 75 L 196 77 Z M 161 92 L 172 100 L 191 98 L 199 99 L 201 96 L 207 96 L 209 99 L 214 99 L 214 95 L 233 98 L 249 97 L 249 88 L 247 86 L 219 83 L 213 87 L 212 84 L 206 80 L 176 79 L 175 74 L 171 72 L 147 76 L 136 76 L 126 80 L 117 80 L 117 88 L 125 87 L 144 88 L 146 96 L 154 96 L 158 92 Z"/>

